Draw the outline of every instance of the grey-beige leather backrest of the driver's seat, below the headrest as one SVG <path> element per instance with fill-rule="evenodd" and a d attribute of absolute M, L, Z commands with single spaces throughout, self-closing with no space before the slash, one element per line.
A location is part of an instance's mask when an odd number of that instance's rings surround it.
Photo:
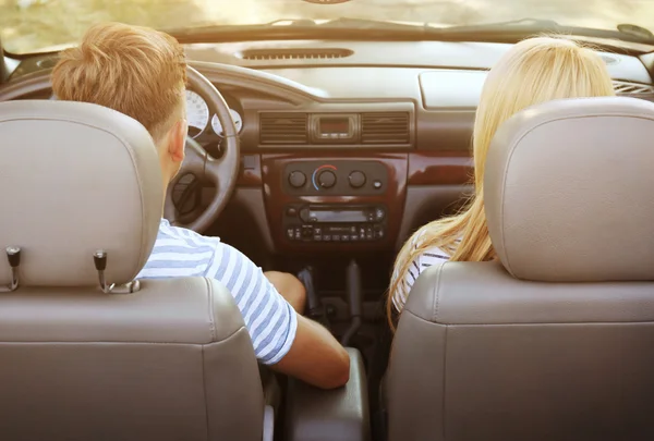
<path fill-rule="evenodd" d="M 262 439 L 252 342 L 214 281 L 2 294 L 0 357 L 3 441 Z"/>

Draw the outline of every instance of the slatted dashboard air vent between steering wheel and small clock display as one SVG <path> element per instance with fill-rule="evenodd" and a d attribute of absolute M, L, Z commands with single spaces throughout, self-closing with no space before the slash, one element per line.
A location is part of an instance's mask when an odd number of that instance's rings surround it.
<path fill-rule="evenodd" d="M 306 144 L 308 138 L 306 113 L 262 113 L 259 143 L 272 145 Z"/>

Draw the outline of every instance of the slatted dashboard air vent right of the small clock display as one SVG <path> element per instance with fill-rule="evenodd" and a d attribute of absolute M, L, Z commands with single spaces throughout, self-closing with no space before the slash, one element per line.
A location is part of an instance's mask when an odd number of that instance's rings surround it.
<path fill-rule="evenodd" d="M 362 113 L 362 144 L 409 144 L 409 113 Z"/>

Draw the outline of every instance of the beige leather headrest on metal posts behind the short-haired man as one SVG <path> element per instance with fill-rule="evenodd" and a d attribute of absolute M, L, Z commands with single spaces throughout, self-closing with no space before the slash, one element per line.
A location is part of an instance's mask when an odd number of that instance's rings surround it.
<path fill-rule="evenodd" d="M 157 150 L 137 121 L 83 102 L 0 102 L 0 290 L 21 248 L 21 285 L 98 285 L 145 265 L 162 213 Z"/>

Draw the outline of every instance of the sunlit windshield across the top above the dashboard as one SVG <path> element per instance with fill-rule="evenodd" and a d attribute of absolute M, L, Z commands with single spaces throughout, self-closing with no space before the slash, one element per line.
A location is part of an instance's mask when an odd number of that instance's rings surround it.
<path fill-rule="evenodd" d="M 529 17 L 566 26 L 615 30 L 629 23 L 654 29 L 654 0 L 0 0 L 0 37 L 8 52 L 25 53 L 74 44 L 102 21 L 181 29 L 342 17 L 435 26 Z"/>

